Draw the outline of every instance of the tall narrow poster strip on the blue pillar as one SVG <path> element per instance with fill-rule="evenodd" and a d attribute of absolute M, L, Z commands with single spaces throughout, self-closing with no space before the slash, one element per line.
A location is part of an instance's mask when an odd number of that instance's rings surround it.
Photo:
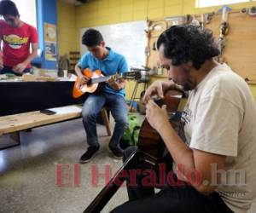
<path fill-rule="evenodd" d="M 57 60 L 57 38 L 56 26 L 49 23 L 44 23 L 44 47 L 45 59 Z"/>

